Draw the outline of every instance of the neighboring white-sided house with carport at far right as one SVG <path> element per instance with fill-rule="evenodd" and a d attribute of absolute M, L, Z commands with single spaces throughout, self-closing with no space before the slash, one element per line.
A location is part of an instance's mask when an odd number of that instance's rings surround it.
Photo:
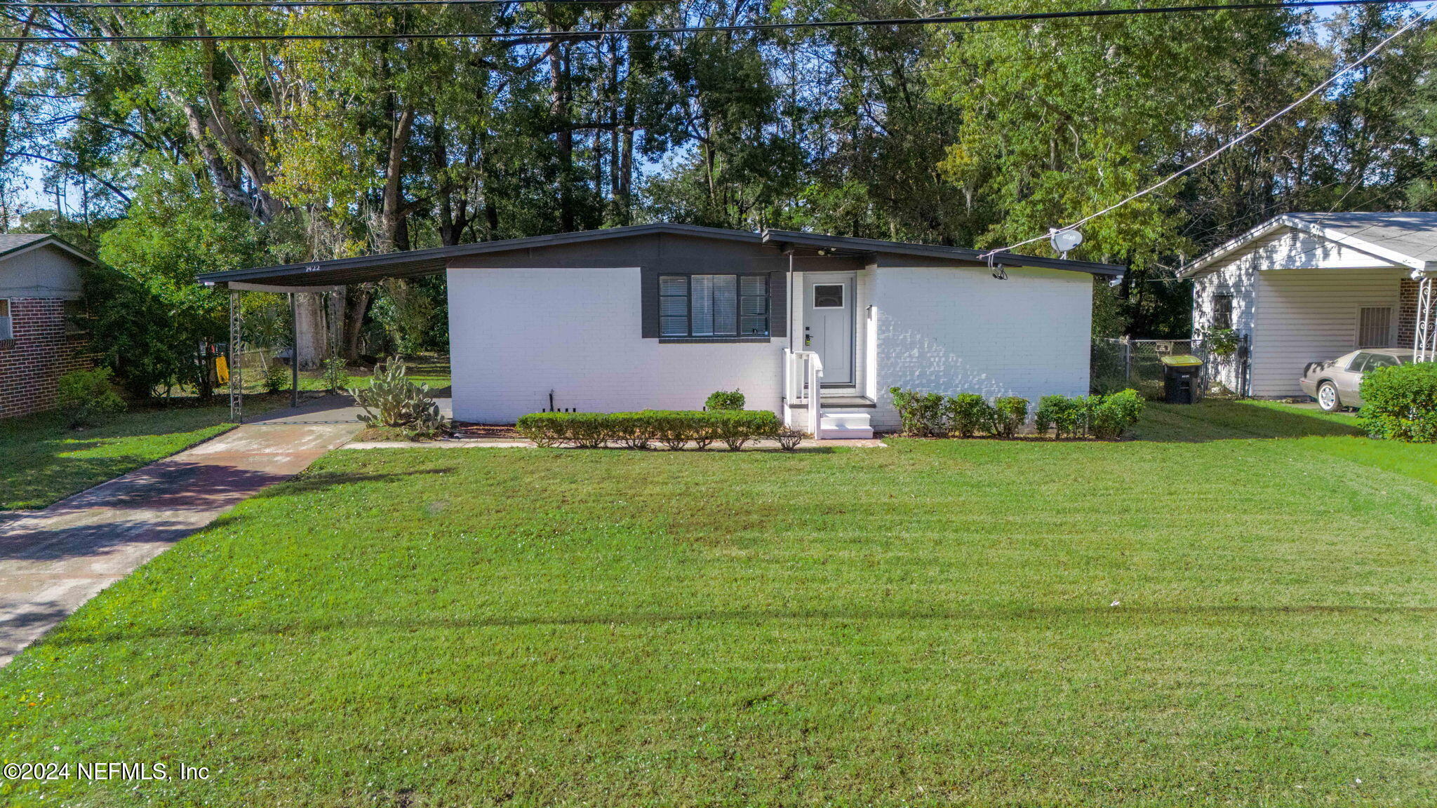
<path fill-rule="evenodd" d="M 1411 348 L 1418 276 L 1437 270 L 1437 213 L 1289 213 L 1183 267 L 1193 338 L 1230 328 L 1247 361 L 1216 378 L 1259 398 L 1302 395 L 1308 362 Z M 1430 286 L 1430 285 L 1428 285 Z"/>

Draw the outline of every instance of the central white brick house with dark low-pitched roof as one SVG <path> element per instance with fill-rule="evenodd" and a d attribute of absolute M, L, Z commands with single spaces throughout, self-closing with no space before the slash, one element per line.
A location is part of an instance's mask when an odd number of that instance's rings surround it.
<path fill-rule="evenodd" d="M 1122 267 L 645 224 L 201 280 L 280 289 L 435 272 L 448 280 L 457 420 L 696 410 L 737 388 L 809 430 L 816 380 L 825 436 L 864 437 L 898 426 L 891 387 L 1086 394 L 1094 276 Z"/>

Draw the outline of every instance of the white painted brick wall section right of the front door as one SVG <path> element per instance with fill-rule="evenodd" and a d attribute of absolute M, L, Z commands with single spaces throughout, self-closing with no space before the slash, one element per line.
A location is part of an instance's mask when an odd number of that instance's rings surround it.
<path fill-rule="evenodd" d="M 897 428 L 890 387 L 923 392 L 1086 395 L 1092 276 L 1015 269 L 878 267 L 878 410 L 875 428 Z"/>

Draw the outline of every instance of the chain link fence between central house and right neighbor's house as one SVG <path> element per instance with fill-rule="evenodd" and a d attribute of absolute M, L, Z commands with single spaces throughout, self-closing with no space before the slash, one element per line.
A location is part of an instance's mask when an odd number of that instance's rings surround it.
<path fill-rule="evenodd" d="M 1089 385 L 1092 392 L 1132 388 L 1144 398 L 1161 401 L 1163 357 L 1191 355 L 1203 359 L 1197 395 L 1246 395 L 1249 349 L 1246 338 L 1237 351 L 1213 355 L 1201 339 L 1094 339 Z"/>

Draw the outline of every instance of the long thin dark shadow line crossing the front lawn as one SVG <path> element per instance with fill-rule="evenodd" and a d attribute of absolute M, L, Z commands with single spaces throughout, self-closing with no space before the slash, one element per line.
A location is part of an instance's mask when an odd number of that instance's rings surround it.
<path fill-rule="evenodd" d="M 167 640 L 175 637 L 241 637 L 263 634 L 326 634 L 349 630 L 392 630 L 414 633 L 422 630 L 476 630 L 476 628 L 523 628 L 533 625 L 661 625 L 670 623 L 721 623 L 721 624 L 763 624 L 773 621 L 1032 621 L 1035 624 L 1050 624 L 1061 618 L 1081 620 L 1085 625 L 1094 621 L 1108 620 L 1122 621 L 1161 621 L 1164 618 L 1203 618 L 1243 620 L 1250 617 L 1312 617 L 1331 615 L 1348 618 L 1351 615 L 1437 615 L 1437 607 L 1421 605 L 1188 605 L 1188 607 L 1027 607 L 1013 610 L 871 610 L 871 608 L 838 608 L 838 610 L 734 610 L 734 611 L 693 611 L 693 612 L 661 612 L 661 614 L 601 614 L 601 615 L 513 615 L 513 617 L 476 617 L 454 618 L 443 615 L 425 615 L 412 620 L 374 620 L 356 617 L 355 620 L 297 620 L 292 623 L 272 623 L 263 625 L 224 627 L 224 625 L 190 625 L 157 630 L 106 630 L 85 631 L 73 635 L 55 637 L 53 646 L 89 646 L 96 643 L 116 641 L 145 641 Z"/>

